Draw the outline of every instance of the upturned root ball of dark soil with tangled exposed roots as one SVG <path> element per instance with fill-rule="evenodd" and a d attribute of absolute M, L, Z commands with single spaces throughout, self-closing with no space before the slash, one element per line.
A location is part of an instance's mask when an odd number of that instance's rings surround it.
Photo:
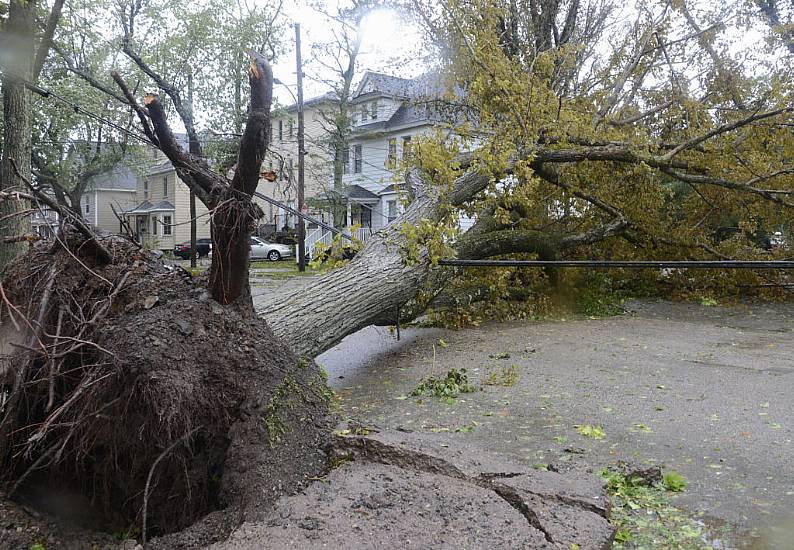
<path fill-rule="evenodd" d="M 143 538 L 204 518 L 162 547 L 220 540 L 327 469 L 324 376 L 250 305 L 219 305 L 125 239 L 102 244 L 109 264 L 39 244 L 6 273 L 3 490 L 49 512 L 71 499 L 82 523 Z"/>

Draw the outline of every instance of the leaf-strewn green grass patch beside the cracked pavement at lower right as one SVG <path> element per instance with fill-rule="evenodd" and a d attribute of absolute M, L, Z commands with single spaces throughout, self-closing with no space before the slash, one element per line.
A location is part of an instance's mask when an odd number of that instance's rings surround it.
<path fill-rule="evenodd" d="M 614 549 L 676 548 L 705 550 L 705 528 L 670 502 L 671 492 L 682 491 L 686 480 L 667 472 L 662 481 L 648 485 L 641 477 L 604 469 L 607 492 L 612 499 L 609 521 L 617 527 Z"/>

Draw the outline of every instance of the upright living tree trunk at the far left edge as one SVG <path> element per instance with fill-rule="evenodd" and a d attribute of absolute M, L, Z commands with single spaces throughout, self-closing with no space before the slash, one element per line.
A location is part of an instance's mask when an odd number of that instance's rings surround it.
<path fill-rule="evenodd" d="M 3 159 L 0 168 L 0 191 L 15 188 L 25 190 L 17 170 L 30 180 L 31 114 L 30 92 L 22 80 L 30 81 L 33 72 L 34 0 L 12 0 L 5 23 L 3 71 Z M 23 201 L 0 202 L 0 237 L 15 236 L 30 231 L 30 218 L 22 214 L 27 209 Z M 0 246 L 0 271 L 18 254 L 24 252 L 24 242 Z"/>

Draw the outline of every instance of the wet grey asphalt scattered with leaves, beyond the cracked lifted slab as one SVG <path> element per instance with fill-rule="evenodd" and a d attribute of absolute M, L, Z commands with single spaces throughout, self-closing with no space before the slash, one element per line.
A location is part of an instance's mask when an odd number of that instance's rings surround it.
<path fill-rule="evenodd" d="M 662 464 L 689 481 L 677 505 L 723 526 L 729 545 L 792 521 L 794 304 L 627 310 L 412 329 L 399 343 L 371 327 L 317 360 L 344 413 L 365 424 L 445 433 L 562 470 Z M 408 397 L 423 376 L 450 368 L 465 368 L 482 390 L 449 403 Z M 483 385 L 511 369 L 515 385 Z M 585 424 L 601 426 L 604 439 L 577 433 Z"/>

